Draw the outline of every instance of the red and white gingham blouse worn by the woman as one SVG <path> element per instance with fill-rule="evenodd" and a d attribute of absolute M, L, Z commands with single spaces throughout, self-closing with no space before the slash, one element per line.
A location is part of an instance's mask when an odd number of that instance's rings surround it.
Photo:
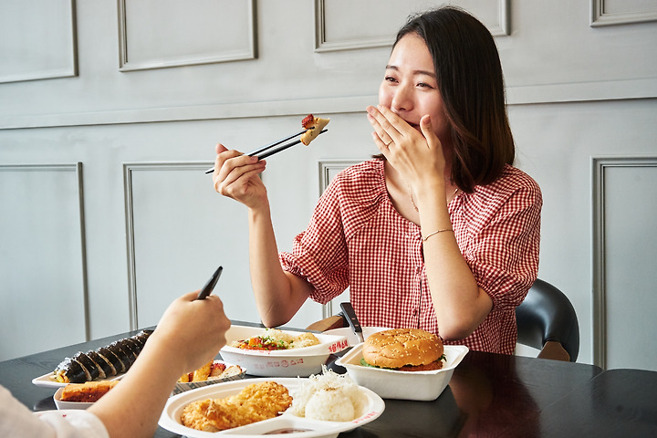
<path fill-rule="evenodd" d="M 501 177 L 449 203 L 456 241 L 493 309 L 467 338 L 470 349 L 512 354 L 516 306 L 537 278 L 542 197 L 526 173 L 506 166 Z M 327 303 L 347 287 L 368 327 L 422 328 L 436 334 L 420 227 L 392 206 L 383 162 L 362 162 L 340 172 L 321 196 L 305 232 L 283 268 L 306 278 L 311 298 Z"/>

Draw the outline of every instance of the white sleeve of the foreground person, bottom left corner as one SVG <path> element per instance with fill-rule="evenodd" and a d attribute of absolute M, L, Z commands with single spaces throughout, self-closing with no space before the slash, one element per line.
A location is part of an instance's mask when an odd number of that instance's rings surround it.
<path fill-rule="evenodd" d="M 30 412 L 0 386 L 0 436 L 25 438 L 110 438 L 105 425 L 87 411 Z"/>

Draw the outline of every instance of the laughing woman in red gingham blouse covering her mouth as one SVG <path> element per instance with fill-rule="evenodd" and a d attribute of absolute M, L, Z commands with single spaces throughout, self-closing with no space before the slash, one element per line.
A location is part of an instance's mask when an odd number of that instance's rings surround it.
<path fill-rule="evenodd" d="M 349 287 L 361 324 L 422 328 L 510 354 L 537 277 L 542 198 L 513 167 L 490 32 L 447 6 L 401 27 L 367 109 L 381 154 L 340 172 L 278 253 L 264 162 L 217 145 L 214 187 L 248 207 L 252 284 L 266 326 Z"/>

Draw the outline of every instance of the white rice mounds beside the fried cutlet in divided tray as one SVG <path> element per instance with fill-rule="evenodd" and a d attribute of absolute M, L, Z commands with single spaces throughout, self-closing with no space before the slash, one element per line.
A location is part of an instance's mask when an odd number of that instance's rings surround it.
<path fill-rule="evenodd" d="M 365 413 L 367 396 L 349 375 L 327 370 L 312 375 L 292 392 L 290 412 L 299 417 L 327 422 L 350 422 Z"/>

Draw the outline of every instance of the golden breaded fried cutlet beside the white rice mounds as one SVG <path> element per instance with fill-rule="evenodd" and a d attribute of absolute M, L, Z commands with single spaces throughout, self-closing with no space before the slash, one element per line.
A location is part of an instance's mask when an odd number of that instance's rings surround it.
<path fill-rule="evenodd" d="M 285 386 L 264 381 L 224 399 L 194 401 L 184 407 L 181 422 L 198 431 L 219 432 L 277 417 L 291 404 Z"/>

